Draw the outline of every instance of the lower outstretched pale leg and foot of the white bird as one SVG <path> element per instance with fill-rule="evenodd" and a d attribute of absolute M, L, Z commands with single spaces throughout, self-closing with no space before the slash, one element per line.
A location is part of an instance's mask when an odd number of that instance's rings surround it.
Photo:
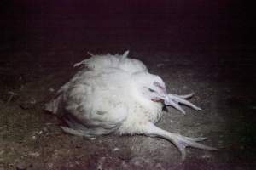
<path fill-rule="evenodd" d="M 145 131 L 144 134 L 148 136 L 153 136 L 153 137 L 161 137 L 164 139 L 167 139 L 171 141 L 177 149 L 181 152 L 182 155 L 182 160 L 185 160 L 186 157 L 186 147 L 194 147 L 198 148 L 201 150 L 217 150 L 216 148 L 213 148 L 211 146 L 207 146 L 204 144 L 200 144 L 198 142 L 201 142 L 204 139 L 207 138 L 189 138 L 182 136 L 177 133 L 169 133 L 166 130 L 161 129 L 160 127 L 156 127 L 153 123 L 148 122 L 147 126 L 143 128 Z"/>

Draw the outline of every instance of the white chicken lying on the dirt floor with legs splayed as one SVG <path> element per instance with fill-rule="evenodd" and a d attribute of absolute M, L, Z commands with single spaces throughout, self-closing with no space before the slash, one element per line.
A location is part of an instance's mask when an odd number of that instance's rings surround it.
<path fill-rule="evenodd" d="M 66 133 L 94 137 L 108 133 L 143 134 L 171 141 L 184 160 L 187 146 L 216 150 L 197 143 L 206 138 L 189 138 L 169 133 L 154 125 L 162 116 L 164 105 L 185 113 L 180 104 L 195 110 L 190 103 L 193 94 L 167 94 L 163 80 L 148 73 L 147 67 L 125 54 L 91 55 L 74 66 L 83 68 L 63 85 L 55 99 L 45 105 L 47 111 L 61 115 L 68 127 Z"/>

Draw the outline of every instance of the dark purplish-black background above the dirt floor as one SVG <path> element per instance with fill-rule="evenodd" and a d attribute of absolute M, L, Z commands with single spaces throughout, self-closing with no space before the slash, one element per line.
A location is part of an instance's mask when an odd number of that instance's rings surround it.
<path fill-rule="evenodd" d="M 16 1 L 2 3 L 1 42 L 12 48 L 204 50 L 252 47 L 254 20 L 239 1 Z M 252 9 L 253 11 L 253 9 Z M 21 45 L 20 45 L 21 44 Z"/>

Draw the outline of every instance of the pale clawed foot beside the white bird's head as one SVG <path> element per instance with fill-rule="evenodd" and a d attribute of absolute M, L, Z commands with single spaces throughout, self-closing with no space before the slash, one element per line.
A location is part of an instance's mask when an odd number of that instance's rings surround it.
<path fill-rule="evenodd" d="M 181 111 L 183 114 L 186 112 L 183 110 L 183 108 L 179 104 L 188 105 L 189 107 L 195 109 L 196 111 L 201 111 L 201 108 L 192 104 L 186 99 L 189 99 L 194 94 L 185 94 L 185 95 L 176 95 L 176 94 L 168 94 L 165 99 L 165 105 L 172 105 L 175 109 L 178 111 Z"/>

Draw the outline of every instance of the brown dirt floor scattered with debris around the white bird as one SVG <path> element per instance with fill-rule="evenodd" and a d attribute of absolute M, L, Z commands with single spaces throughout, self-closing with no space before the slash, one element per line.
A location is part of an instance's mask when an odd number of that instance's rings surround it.
<path fill-rule="evenodd" d="M 168 52 L 135 48 L 150 72 L 173 94 L 195 92 L 203 111 L 169 108 L 158 125 L 189 137 L 204 136 L 218 151 L 187 149 L 144 136 L 84 139 L 63 133 L 44 104 L 77 70 L 83 52 L 66 48 L 32 51 L 3 47 L 0 77 L 0 170 L 5 169 L 253 169 L 256 166 L 253 53 L 240 48 Z M 85 51 L 86 52 L 86 51 Z M 96 48 L 92 48 L 92 52 Z M 110 53 L 123 51 L 102 50 Z M 36 56 L 36 57 L 35 57 Z M 246 57 L 245 57 L 246 56 Z M 251 60 L 250 60 L 251 59 Z M 15 94 L 12 94 L 15 93 Z"/>

